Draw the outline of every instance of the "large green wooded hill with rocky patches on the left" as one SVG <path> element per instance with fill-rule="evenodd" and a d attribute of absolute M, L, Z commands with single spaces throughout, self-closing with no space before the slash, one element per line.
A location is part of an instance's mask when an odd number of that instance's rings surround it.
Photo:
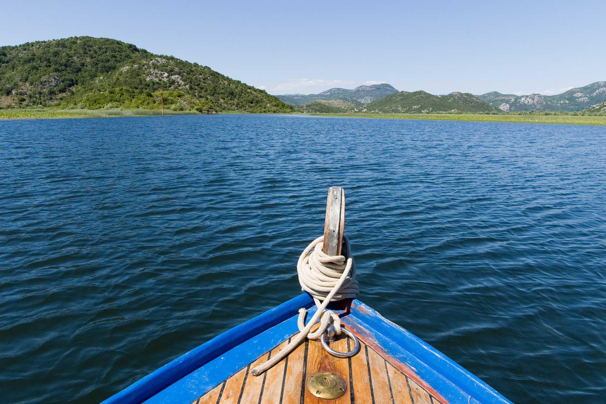
<path fill-rule="evenodd" d="M 0 107 L 291 112 L 210 67 L 90 36 L 0 47 Z"/>

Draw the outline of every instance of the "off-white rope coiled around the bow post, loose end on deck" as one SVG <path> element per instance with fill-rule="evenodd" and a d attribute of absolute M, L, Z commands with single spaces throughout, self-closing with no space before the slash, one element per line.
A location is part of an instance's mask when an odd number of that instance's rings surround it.
<path fill-rule="evenodd" d="M 291 353 L 302 340 L 316 339 L 324 334 L 324 331 L 330 324 L 330 320 L 335 326 L 336 334 L 341 334 L 341 319 L 326 306 L 336 300 L 348 299 L 358 296 L 358 281 L 356 280 L 356 265 L 350 253 L 350 245 L 347 237 L 343 236 L 344 255 L 328 256 L 322 252 L 324 236 L 313 240 L 305 248 L 299 261 L 297 262 L 297 272 L 299 273 L 299 283 L 301 289 L 309 293 L 318 310 L 311 317 L 310 322 L 305 325 L 305 316 L 307 310 L 299 309 L 298 326 L 300 333 L 295 336 L 291 342 L 282 349 L 276 356 L 272 357 L 262 365 L 251 370 L 253 376 L 259 376 L 271 366 L 280 362 L 285 356 Z M 314 248 L 315 247 L 315 248 Z M 313 248 L 313 251 L 311 249 Z M 348 257 L 346 257 L 348 256 Z M 321 302 L 320 300 L 324 300 Z M 310 329 L 320 320 L 319 328 L 310 333 Z"/>

